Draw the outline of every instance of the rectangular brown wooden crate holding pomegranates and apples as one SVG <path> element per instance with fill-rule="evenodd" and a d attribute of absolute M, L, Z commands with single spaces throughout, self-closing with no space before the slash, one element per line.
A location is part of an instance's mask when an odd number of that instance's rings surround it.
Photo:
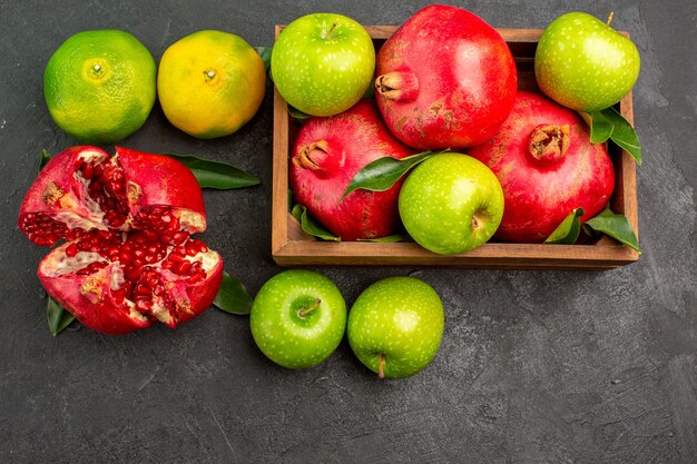
<path fill-rule="evenodd" d="M 276 37 L 283 26 L 276 26 Z M 376 49 L 396 27 L 369 26 Z M 538 90 L 533 57 L 541 29 L 498 29 L 508 42 L 519 71 L 519 88 Z M 538 90 L 539 91 L 539 90 Z M 488 243 L 455 256 L 433 254 L 415 243 L 320 241 L 306 235 L 288 214 L 288 159 L 293 121 L 287 103 L 274 90 L 274 148 L 272 199 L 272 256 L 283 266 L 304 265 L 409 265 L 459 266 L 503 269 L 611 269 L 636 261 L 639 254 L 610 237 L 583 245 Z M 622 116 L 634 124 L 631 93 L 620 102 Z M 610 207 L 627 216 L 638 237 L 637 176 L 635 160 L 613 144 L 608 146 L 615 164 L 616 186 Z"/>

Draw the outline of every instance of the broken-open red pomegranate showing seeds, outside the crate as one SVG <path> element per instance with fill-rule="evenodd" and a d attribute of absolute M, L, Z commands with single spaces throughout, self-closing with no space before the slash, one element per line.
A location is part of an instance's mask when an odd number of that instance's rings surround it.
<path fill-rule="evenodd" d="M 125 334 L 175 327 L 205 310 L 223 278 L 220 256 L 190 235 L 206 228 L 200 187 L 181 162 L 116 148 L 72 147 L 30 187 L 19 228 L 53 246 L 39 264 L 48 294 L 80 323 Z"/>

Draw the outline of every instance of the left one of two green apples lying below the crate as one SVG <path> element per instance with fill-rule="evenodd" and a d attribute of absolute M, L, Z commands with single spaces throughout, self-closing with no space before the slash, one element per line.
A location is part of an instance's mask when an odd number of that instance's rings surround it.
<path fill-rule="evenodd" d="M 291 269 L 268 279 L 249 313 L 254 342 L 274 363 L 311 367 L 338 346 L 346 328 L 346 303 L 322 274 Z"/>

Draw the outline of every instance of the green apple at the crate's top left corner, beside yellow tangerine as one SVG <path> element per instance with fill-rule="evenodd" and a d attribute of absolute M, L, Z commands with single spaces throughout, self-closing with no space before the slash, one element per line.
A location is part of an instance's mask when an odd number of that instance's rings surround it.
<path fill-rule="evenodd" d="M 281 96 L 312 116 L 354 106 L 373 82 L 375 47 L 363 26 L 335 13 L 313 13 L 285 27 L 271 53 Z"/>

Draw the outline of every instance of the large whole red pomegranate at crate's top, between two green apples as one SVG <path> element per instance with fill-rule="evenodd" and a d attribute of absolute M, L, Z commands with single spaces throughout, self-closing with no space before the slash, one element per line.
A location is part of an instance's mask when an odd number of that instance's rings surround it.
<path fill-rule="evenodd" d="M 493 136 L 518 85 L 499 32 L 461 8 L 432 4 L 404 22 L 376 57 L 375 98 L 392 134 L 422 150 Z"/>

